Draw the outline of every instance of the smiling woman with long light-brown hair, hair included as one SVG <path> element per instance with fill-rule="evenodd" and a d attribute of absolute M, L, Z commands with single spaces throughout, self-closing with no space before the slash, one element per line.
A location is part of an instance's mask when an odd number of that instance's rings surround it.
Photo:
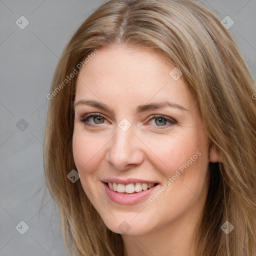
<path fill-rule="evenodd" d="M 110 0 L 66 45 L 44 139 L 75 255 L 256 254 L 254 82 L 192 0 Z"/>

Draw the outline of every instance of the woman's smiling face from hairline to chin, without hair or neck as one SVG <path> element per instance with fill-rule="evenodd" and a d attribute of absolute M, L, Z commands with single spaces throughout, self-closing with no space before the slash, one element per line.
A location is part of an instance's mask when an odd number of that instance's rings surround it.
<path fill-rule="evenodd" d="M 150 51 L 102 48 L 78 75 L 74 161 L 84 192 L 116 233 L 193 221 L 205 202 L 212 152 L 173 68 Z"/>

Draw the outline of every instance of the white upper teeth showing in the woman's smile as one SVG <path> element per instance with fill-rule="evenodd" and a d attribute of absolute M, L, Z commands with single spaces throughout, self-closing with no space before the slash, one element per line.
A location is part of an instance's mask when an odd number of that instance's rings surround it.
<path fill-rule="evenodd" d="M 110 189 L 119 193 L 134 193 L 134 191 L 141 192 L 142 190 L 147 190 L 147 188 L 151 188 L 153 185 L 154 183 L 130 183 L 124 185 L 121 183 L 108 182 L 108 186 L 110 187 Z"/>

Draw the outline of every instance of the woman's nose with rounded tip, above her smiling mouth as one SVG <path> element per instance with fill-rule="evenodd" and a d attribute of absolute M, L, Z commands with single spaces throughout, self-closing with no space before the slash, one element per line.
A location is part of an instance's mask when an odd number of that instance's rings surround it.
<path fill-rule="evenodd" d="M 133 133 L 132 126 L 126 131 L 116 127 L 116 134 L 109 141 L 106 161 L 115 169 L 127 170 L 143 161 L 142 146 L 143 143 Z"/>

